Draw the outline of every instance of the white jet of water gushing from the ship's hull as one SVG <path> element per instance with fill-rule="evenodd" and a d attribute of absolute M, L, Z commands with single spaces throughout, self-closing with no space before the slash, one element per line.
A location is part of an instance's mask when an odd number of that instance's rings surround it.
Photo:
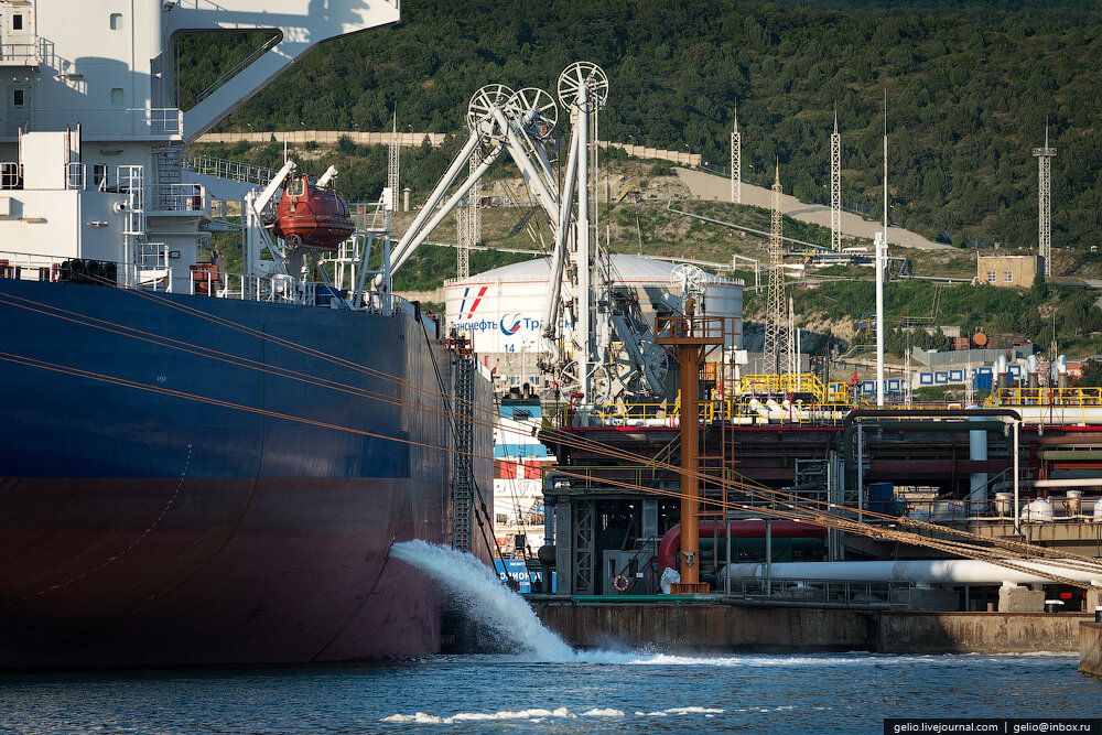
<path fill-rule="evenodd" d="M 390 547 L 390 555 L 447 585 L 482 623 L 529 650 L 540 661 L 575 661 L 573 649 L 543 627 L 525 599 L 472 554 L 420 540 Z"/>

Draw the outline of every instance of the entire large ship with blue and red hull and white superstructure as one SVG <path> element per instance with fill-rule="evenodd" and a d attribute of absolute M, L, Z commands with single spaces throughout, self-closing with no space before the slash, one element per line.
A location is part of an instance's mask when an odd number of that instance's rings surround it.
<path fill-rule="evenodd" d="M 433 652 L 440 593 L 390 544 L 488 558 L 490 463 L 455 458 L 491 452 L 456 417 L 489 396 L 474 360 L 386 278 L 342 291 L 269 234 L 293 163 L 182 163 L 311 47 L 399 17 L 315 6 L 0 0 L 0 667 Z M 227 30 L 270 40 L 182 112 L 175 44 Z M 236 275 L 210 247 L 235 225 Z M 356 237 L 363 270 L 385 233 Z"/>

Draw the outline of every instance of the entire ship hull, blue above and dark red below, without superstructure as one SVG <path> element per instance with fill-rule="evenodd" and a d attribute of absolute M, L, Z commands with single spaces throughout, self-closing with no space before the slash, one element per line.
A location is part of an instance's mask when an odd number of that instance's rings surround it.
<path fill-rule="evenodd" d="M 439 650 L 439 592 L 387 559 L 451 537 L 435 335 L 71 283 L 0 279 L 0 666 Z"/>

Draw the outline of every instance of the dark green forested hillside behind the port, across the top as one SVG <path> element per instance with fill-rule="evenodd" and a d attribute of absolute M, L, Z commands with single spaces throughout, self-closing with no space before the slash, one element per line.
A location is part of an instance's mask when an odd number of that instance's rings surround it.
<path fill-rule="evenodd" d="M 397 108 L 403 128 L 458 131 L 479 86 L 553 90 L 569 63 L 591 60 L 611 80 L 603 138 L 725 163 L 737 104 L 744 170 L 779 158 L 804 201 L 825 192 L 836 102 L 844 198 L 874 204 L 886 89 L 897 219 L 1035 244 L 1031 148 L 1048 119 L 1054 245 L 1102 244 L 1102 10 L 959 4 L 411 1 L 400 26 L 324 45 L 223 129 L 382 130 Z M 183 104 L 231 63 L 226 39 L 181 44 Z"/>

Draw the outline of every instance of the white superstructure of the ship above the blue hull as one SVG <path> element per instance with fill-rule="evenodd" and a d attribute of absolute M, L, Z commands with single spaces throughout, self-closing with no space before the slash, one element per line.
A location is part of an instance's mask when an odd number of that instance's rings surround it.
<path fill-rule="evenodd" d="M 217 212 L 183 145 L 321 41 L 399 17 L 397 2 L 316 4 L 0 0 L 0 259 L 43 277 L 101 261 L 120 283 L 194 289 Z M 270 41 L 184 112 L 176 41 L 215 31 Z"/>

